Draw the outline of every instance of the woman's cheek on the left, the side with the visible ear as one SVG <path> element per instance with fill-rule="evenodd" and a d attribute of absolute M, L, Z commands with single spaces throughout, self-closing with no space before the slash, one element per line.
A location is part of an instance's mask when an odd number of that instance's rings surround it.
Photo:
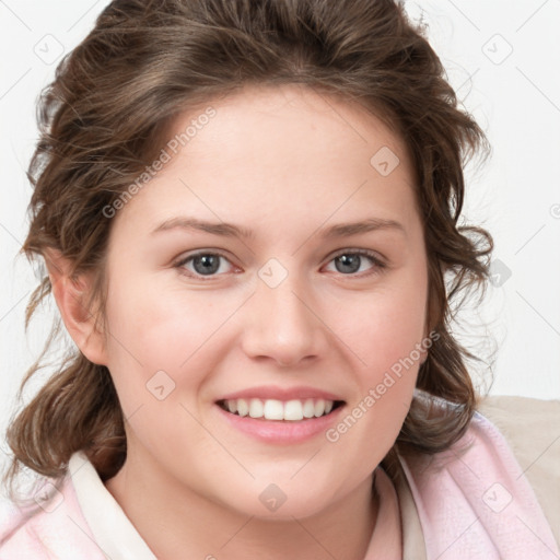
<path fill-rule="evenodd" d="M 176 388 L 202 383 L 205 368 L 217 352 L 220 328 L 238 307 L 231 295 L 218 299 L 210 291 L 141 290 L 121 282 L 107 302 L 108 368 L 122 406 L 151 401 L 147 384 L 165 372 Z M 164 294 L 164 295 L 162 295 Z M 160 377 L 166 380 L 160 373 Z M 176 392 L 178 394 L 179 392 Z"/>

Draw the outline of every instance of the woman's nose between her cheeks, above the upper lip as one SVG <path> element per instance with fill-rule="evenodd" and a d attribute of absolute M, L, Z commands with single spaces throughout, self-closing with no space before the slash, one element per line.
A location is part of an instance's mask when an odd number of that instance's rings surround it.
<path fill-rule="evenodd" d="M 327 348 L 327 326 L 310 289 L 288 277 L 276 288 L 257 280 L 245 308 L 243 350 L 253 359 L 270 359 L 282 368 L 317 359 Z"/>

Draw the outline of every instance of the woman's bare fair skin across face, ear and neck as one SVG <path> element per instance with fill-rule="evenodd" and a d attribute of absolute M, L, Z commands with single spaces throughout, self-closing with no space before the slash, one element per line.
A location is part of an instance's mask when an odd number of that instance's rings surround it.
<path fill-rule="evenodd" d="M 127 418 L 128 457 L 106 487 L 158 558 L 361 559 L 380 506 L 372 472 L 399 433 L 425 354 L 336 442 L 320 433 L 262 443 L 214 401 L 306 385 L 339 395 L 348 413 L 428 335 L 412 167 L 378 118 L 311 90 L 253 86 L 211 105 L 217 115 L 113 218 L 110 336 L 71 303 L 86 278 L 55 288 L 70 334 L 108 366 Z M 182 115 L 171 136 L 192 118 Z M 383 147 L 399 159 L 387 176 L 370 163 Z M 254 235 L 151 234 L 179 215 Z M 402 230 L 320 236 L 369 218 Z M 335 257 L 357 249 L 385 268 L 362 257 L 357 272 L 337 269 Z M 200 250 L 225 257 L 212 277 L 197 277 L 192 260 L 175 266 Z M 288 275 L 276 288 L 258 276 L 271 258 Z M 162 400 L 147 389 L 158 371 L 175 384 Z M 275 512 L 259 500 L 270 483 L 287 497 Z"/>

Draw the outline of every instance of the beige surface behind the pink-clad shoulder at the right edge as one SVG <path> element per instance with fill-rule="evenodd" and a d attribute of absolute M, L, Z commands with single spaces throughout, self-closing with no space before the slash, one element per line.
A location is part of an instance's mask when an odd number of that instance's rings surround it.
<path fill-rule="evenodd" d="M 488 396 L 479 412 L 508 442 L 560 542 L 560 400 Z"/>

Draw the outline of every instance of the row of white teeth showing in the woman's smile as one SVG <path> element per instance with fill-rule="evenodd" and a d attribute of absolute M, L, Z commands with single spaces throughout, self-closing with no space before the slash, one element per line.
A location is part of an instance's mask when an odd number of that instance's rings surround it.
<path fill-rule="evenodd" d="M 259 398 L 236 398 L 223 401 L 223 408 L 231 413 L 250 418 L 265 418 L 266 420 L 289 420 L 292 422 L 304 418 L 318 418 L 332 410 L 334 401 L 323 398 L 305 400 L 276 399 L 261 400 Z"/>

